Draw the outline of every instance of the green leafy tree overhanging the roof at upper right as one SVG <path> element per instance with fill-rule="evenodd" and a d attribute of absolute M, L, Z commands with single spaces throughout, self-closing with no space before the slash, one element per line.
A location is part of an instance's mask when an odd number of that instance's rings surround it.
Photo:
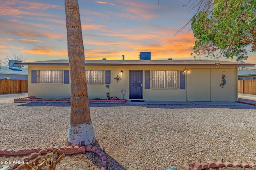
<path fill-rule="evenodd" d="M 256 0 L 196 0 L 190 8 L 198 9 L 191 19 L 195 58 L 242 61 L 256 51 Z"/>

